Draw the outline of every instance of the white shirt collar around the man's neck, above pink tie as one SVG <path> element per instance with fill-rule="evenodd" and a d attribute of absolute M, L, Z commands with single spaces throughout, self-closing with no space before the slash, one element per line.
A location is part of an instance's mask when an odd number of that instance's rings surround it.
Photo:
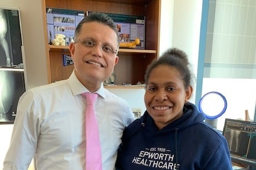
<path fill-rule="evenodd" d="M 68 83 L 71 87 L 71 91 L 74 96 L 83 94 L 84 92 L 89 92 L 89 90 L 77 79 L 77 76 L 74 73 L 74 70 L 71 76 L 69 76 L 68 78 Z M 103 83 L 95 93 L 97 93 L 98 95 L 102 96 L 105 99 L 106 94 L 104 92 Z"/>

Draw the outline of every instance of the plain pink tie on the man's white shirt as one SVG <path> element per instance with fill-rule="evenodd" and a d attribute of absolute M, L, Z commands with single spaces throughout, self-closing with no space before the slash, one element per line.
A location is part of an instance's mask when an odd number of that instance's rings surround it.
<path fill-rule="evenodd" d="M 98 94 L 84 93 L 87 99 L 86 108 L 86 170 L 102 170 L 101 145 L 99 128 L 94 113 L 94 103 Z"/>

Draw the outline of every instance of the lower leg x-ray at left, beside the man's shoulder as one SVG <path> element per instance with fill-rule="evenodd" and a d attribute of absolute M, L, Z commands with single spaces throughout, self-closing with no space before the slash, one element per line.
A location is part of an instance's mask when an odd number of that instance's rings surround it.
<path fill-rule="evenodd" d="M 14 121 L 18 100 L 24 91 L 23 71 L 0 70 L 0 123 Z"/>

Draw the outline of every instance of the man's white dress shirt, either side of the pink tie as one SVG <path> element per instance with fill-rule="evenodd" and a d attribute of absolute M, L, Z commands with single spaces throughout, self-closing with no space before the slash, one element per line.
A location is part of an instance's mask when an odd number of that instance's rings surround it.
<path fill-rule="evenodd" d="M 35 154 L 38 170 L 84 170 L 86 99 L 80 95 L 84 92 L 88 90 L 74 71 L 67 80 L 26 91 L 18 102 L 3 170 L 27 170 Z M 104 170 L 111 170 L 123 130 L 134 116 L 127 101 L 103 85 L 96 92 L 102 164 Z"/>

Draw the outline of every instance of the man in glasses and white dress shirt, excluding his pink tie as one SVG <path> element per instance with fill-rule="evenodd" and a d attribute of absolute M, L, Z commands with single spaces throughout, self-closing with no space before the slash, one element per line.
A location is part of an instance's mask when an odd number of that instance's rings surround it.
<path fill-rule="evenodd" d="M 26 91 L 19 100 L 4 170 L 86 169 L 84 92 L 97 93 L 103 169 L 114 169 L 122 132 L 134 120 L 127 102 L 103 88 L 118 62 L 118 32 L 111 18 L 91 13 L 69 45 L 74 71 L 67 80 Z"/>

